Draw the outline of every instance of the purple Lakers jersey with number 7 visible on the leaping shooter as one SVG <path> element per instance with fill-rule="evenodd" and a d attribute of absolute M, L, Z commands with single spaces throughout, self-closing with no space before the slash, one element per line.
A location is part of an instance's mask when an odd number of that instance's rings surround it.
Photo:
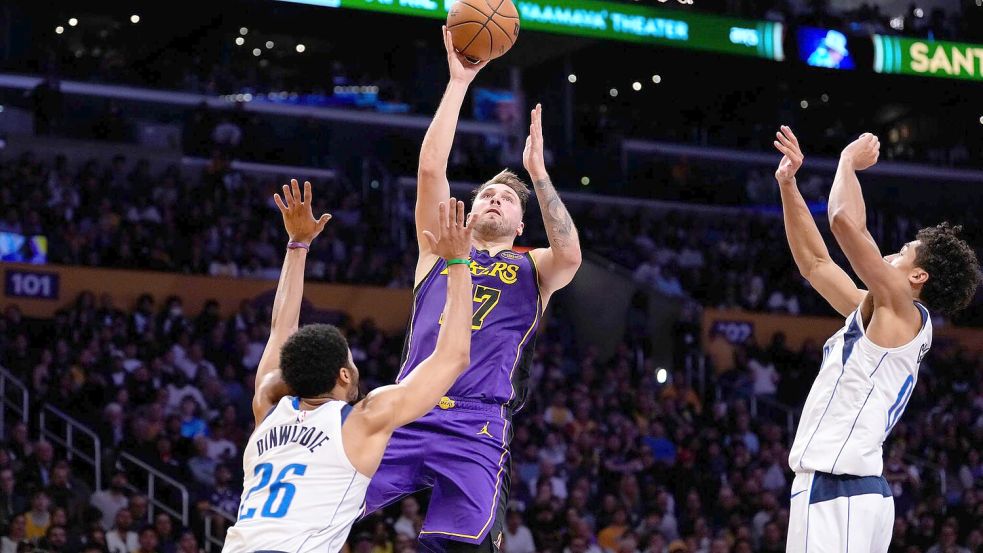
<path fill-rule="evenodd" d="M 471 248 L 474 317 L 471 367 L 449 397 L 522 407 L 529 379 L 541 298 L 531 256 L 511 250 L 496 256 Z M 440 259 L 415 290 L 399 382 L 433 353 L 447 300 L 447 263 Z"/>

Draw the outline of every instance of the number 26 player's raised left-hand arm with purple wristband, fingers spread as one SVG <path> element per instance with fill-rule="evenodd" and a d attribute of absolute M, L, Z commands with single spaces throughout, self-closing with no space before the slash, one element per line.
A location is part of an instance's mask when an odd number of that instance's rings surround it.
<path fill-rule="evenodd" d="M 253 395 L 253 416 L 259 424 L 280 398 L 290 393 L 280 372 L 280 350 L 290 336 L 297 331 L 300 321 L 300 304 L 304 299 L 304 265 L 307 247 L 324 230 L 331 219 L 322 215 L 314 219 L 311 212 L 311 183 L 304 183 L 304 195 L 296 180 L 290 186 L 283 185 L 283 198 L 273 195 L 273 200 L 283 215 L 283 226 L 290 237 L 287 254 L 280 269 L 280 282 L 273 299 L 273 317 L 270 323 L 270 339 L 266 342 L 263 357 L 256 370 L 256 392 Z"/>

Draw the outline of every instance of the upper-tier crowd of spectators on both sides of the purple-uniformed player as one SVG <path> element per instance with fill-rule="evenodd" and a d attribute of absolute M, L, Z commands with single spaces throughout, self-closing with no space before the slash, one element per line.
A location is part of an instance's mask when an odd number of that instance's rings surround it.
<path fill-rule="evenodd" d="M 733 178 L 697 171 L 680 162 L 657 179 L 668 181 L 667 189 L 696 189 L 699 195 L 699 182 Z M 330 212 L 334 218 L 313 246 L 308 277 L 411 287 L 412 196 L 400 204 L 389 188 L 367 197 L 345 174 L 339 171 L 335 179 L 317 183 L 314 210 Z M 770 176 L 759 171 L 746 175 L 747 200 L 777 201 Z M 823 187 L 814 186 L 816 179 L 801 180 L 806 196 L 822 201 Z M 147 162 L 121 156 L 108 165 L 91 160 L 71 169 L 63 157 L 48 163 L 25 154 L 0 165 L 0 204 L 7 206 L 0 214 L 0 231 L 47 236 L 48 258 L 54 263 L 276 279 L 283 237 L 271 196 L 278 184 L 271 177 L 232 170 L 221 156 L 200 175 L 188 176 L 175 167 L 154 174 Z M 708 190 L 739 188 L 717 184 Z M 721 308 L 832 314 L 796 273 L 777 211 L 721 215 L 699 209 L 568 203 L 585 250 L 621 264 L 638 282 L 665 295 L 692 297 Z M 955 217 L 953 222 L 966 225 L 971 243 L 983 238 L 972 213 L 953 213 L 952 206 L 941 206 L 936 220 L 936 213 L 923 208 L 917 217 L 891 211 L 905 207 L 872 215 L 872 232 L 882 248 L 900 247 L 920 228 L 919 221 L 934 224 L 946 211 Z M 537 207 L 530 208 L 523 243 L 543 244 Z M 826 240 L 835 243 L 828 233 Z M 400 246 L 406 243 L 410 245 Z M 848 266 L 838 248 L 831 251 Z M 955 321 L 976 324 L 979 315 L 970 309 Z"/>

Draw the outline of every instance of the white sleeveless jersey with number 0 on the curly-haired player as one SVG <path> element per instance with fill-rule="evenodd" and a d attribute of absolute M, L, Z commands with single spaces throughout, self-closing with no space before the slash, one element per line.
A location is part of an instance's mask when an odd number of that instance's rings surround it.
<path fill-rule="evenodd" d="M 932 320 L 897 348 L 871 342 L 858 307 L 823 347 L 823 364 L 802 408 L 789 466 L 795 472 L 880 476 L 884 440 L 901 418 L 932 347 Z"/>

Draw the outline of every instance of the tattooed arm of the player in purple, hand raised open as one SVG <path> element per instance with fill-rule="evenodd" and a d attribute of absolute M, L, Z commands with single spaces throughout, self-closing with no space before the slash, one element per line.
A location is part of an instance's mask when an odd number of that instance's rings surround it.
<path fill-rule="evenodd" d="M 529 137 L 526 139 L 526 148 L 522 153 L 522 163 L 529 172 L 533 188 L 536 189 L 536 199 L 539 201 L 543 224 L 546 226 L 546 236 L 550 241 L 548 248 L 533 250 L 531 254 L 539 271 L 539 283 L 545 305 L 553 292 L 570 284 L 577 274 L 577 269 L 580 268 L 582 257 L 577 228 L 573 225 L 570 212 L 563 205 L 546 172 L 541 104 L 536 104 L 536 109 L 532 110 Z"/>

